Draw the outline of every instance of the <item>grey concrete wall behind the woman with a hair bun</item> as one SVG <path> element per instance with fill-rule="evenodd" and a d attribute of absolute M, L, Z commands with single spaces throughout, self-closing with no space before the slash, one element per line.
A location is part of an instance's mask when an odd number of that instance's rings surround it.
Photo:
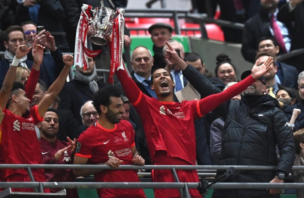
<path fill-rule="evenodd" d="M 254 65 L 253 63 L 245 61 L 242 57 L 241 44 L 228 44 L 196 37 L 190 37 L 189 39 L 192 52 L 196 52 L 202 56 L 206 69 L 209 69 L 213 76 L 215 76 L 216 56 L 220 53 L 225 53 L 230 57 L 231 62 L 237 69 L 238 80 L 240 80 L 240 75 L 245 70 L 251 69 Z"/>

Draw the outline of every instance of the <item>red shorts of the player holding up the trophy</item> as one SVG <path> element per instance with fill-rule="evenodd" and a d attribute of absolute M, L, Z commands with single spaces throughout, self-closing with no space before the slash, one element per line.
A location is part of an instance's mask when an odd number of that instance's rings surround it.
<path fill-rule="evenodd" d="M 153 165 L 191 165 L 188 162 L 176 158 L 167 157 L 162 154 L 154 157 Z M 176 170 L 178 179 L 180 182 L 199 182 L 199 177 L 196 170 Z M 153 170 L 152 171 L 153 182 L 176 182 L 172 170 Z M 189 189 L 189 193 L 192 198 L 202 198 L 197 189 Z M 155 198 L 160 197 L 181 197 L 178 189 L 154 189 Z"/>

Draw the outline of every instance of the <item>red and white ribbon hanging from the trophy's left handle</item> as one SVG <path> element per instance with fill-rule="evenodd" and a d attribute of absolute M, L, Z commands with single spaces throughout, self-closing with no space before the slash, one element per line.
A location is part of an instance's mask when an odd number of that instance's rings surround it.
<path fill-rule="evenodd" d="M 95 57 L 100 54 L 102 50 L 90 50 L 87 45 L 87 32 L 91 18 L 91 5 L 83 4 L 82 12 L 77 26 L 75 50 L 74 50 L 74 66 L 88 68 L 88 57 Z"/>

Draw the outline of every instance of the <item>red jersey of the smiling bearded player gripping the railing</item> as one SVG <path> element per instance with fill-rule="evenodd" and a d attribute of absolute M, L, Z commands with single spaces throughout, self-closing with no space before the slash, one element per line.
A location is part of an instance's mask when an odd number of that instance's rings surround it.
<path fill-rule="evenodd" d="M 105 129 L 96 122 L 80 134 L 76 154 L 89 158 L 92 164 L 105 163 L 111 157 L 123 160 L 122 165 L 132 164 L 131 147 L 134 130 L 130 122 L 121 120 L 114 129 Z M 95 174 L 96 182 L 139 182 L 135 170 L 104 170 Z M 143 189 L 97 189 L 100 197 L 145 197 Z"/>

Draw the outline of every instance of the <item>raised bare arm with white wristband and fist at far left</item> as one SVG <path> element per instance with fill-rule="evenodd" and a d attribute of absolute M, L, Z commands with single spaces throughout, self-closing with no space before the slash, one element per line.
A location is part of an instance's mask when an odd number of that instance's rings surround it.
<path fill-rule="evenodd" d="M 0 107 L 5 108 L 7 102 L 9 101 L 9 96 L 11 94 L 11 90 L 13 88 L 13 83 L 15 81 L 17 66 L 19 65 L 20 59 L 27 55 L 32 47 L 27 47 L 26 45 L 18 45 L 16 55 L 14 60 L 7 71 L 2 88 L 0 90 Z M 14 77 L 12 77 L 14 76 Z"/>

